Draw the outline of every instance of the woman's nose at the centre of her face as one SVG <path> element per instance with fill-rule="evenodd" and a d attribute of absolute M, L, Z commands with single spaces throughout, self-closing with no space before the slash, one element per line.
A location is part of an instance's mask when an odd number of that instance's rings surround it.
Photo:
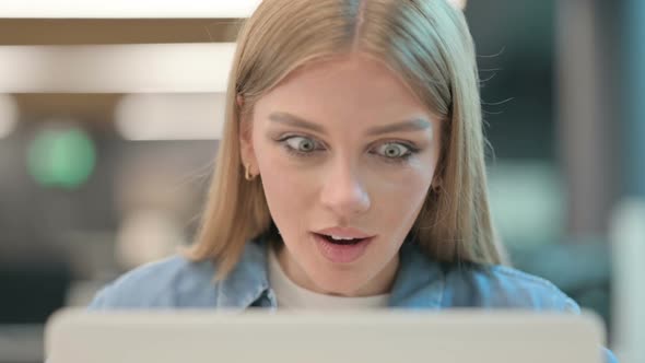
<path fill-rule="evenodd" d="M 370 195 L 359 177 L 359 171 L 349 162 L 335 163 L 324 176 L 320 194 L 322 206 L 343 219 L 370 209 Z"/>

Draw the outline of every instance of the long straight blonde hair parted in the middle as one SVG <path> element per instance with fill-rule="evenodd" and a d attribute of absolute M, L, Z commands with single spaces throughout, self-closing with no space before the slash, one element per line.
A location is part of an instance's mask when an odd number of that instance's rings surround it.
<path fill-rule="evenodd" d="M 249 239 L 274 230 L 260 178 L 244 177 L 241 119 L 296 68 L 356 51 L 384 61 L 442 118 L 441 188 L 427 192 L 409 235 L 439 261 L 504 262 L 486 197 L 474 46 L 464 14 L 446 0 L 262 1 L 238 37 L 224 133 L 189 258 L 214 259 L 224 278 Z"/>

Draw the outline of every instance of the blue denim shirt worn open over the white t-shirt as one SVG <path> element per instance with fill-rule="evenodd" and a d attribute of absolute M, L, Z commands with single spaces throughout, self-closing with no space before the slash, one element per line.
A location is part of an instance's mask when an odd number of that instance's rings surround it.
<path fill-rule="evenodd" d="M 101 290 L 90 309 L 278 307 L 268 279 L 268 248 L 249 242 L 236 268 L 214 281 L 212 261 L 175 256 L 144 265 Z M 389 305 L 404 308 L 529 308 L 579 313 L 578 305 L 549 281 L 518 270 L 477 265 L 442 265 L 404 243 Z M 617 362 L 603 349 L 607 362 Z"/>

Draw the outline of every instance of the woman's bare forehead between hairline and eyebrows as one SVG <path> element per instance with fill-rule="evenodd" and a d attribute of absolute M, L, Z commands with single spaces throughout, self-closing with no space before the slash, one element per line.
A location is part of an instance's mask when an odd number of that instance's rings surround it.
<path fill-rule="evenodd" d="M 396 72 L 379 60 L 357 55 L 300 67 L 261 97 L 257 106 L 267 112 L 310 115 L 316 120 L 429 114 Z"/>

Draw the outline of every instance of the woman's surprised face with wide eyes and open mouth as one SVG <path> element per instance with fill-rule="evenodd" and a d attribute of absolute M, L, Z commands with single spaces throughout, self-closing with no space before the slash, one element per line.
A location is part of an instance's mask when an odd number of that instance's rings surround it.
<path fill-rule="evenodd" d="M 320 293 L 386 293 L 433 182 L 439 120 L 383 63 L 353 56 L 294 71 L 248 125 L 241 151 L 261 176 L 285 273 Z"/>

